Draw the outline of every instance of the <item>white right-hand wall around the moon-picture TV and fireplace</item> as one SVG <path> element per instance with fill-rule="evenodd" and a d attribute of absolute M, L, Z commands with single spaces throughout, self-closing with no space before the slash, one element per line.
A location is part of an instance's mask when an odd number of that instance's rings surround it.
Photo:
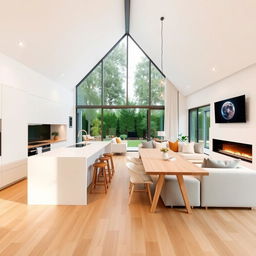
<path fill-rule="evenodd" d="M 242 94 L 246 95 L 247 122 L 216 124 L 214 102 Z M 210 142 L 216 138 L 253 144 L 253 152 L 256 152 L 256 65 L 187 96 L 187 110 L 206 104 L 211 104 Z M 223 157 L 215 153 L 212 155 L 219 158 Z M 253 164 L 247 164 L 244 161 L 242 163 L 256 168 L 256 155 L 253 156 Z"/>

